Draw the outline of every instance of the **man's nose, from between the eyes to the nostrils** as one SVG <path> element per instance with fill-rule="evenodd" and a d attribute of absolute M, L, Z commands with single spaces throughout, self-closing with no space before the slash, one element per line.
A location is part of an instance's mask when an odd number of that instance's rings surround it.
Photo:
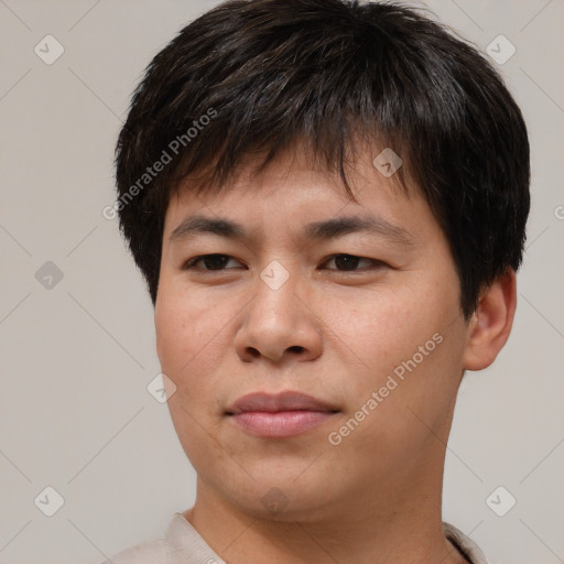
<path fill-rule="evenodd" d="M 284 362 L 285 358 L 317 358 L 322 352 L 323 323 L 307 297 L 307 289 L 299 283 L 296 273 L 278 289 L 258 279 L 256 294 L 245 308 L 235 338 L 239 358 L 245 362 L 263 358 L 273 364 Z"/>

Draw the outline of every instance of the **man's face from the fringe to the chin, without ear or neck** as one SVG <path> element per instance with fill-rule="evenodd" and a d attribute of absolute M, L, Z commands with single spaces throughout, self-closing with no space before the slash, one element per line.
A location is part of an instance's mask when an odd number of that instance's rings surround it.
<path fill-rule="evenodd" d="M 198 487 L 250 514 L 384 510 L 442 479 L 467 338 L 448 242 L 370 155 L 348 178 L 357 202 L 281 155 L 217 195 L 186 184 L 166 212 L 155 326 L 170 412 Z M 191 229 L 196 215 L 245 237 Z M 311 227 L 352 216 L 373 225 Z M 286 391 L 324 408 L 232 414 L 246 394 Z"/>

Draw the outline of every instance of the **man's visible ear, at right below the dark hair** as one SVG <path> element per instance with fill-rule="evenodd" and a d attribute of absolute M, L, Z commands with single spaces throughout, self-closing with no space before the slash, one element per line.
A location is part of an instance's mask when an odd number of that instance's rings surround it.
<path fill-rule="evenodd" d="M 463 366 L 482 370 L 496 360 L 509 338 L 517 306 L 516 273 L 512 269 L 485 289 L 468 324 Z"/>

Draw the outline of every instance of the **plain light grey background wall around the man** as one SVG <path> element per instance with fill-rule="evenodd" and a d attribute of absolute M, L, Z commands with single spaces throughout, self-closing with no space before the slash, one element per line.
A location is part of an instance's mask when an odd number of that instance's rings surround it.
<path fill-rule="evenodd" d="M 115 200 L 116 135 L 142 70 L 215 3 L 0 0 L 6 564 L 101 562 L 161 536 L 194 501 L 166 404 L 147 390 L 160 371 L 152 306 L 101 210 Z M 499 68 L 532 145 L 514 328 L 497 362 L 463 382 L 443 517 L 491 563 L 564 562 L 564 0 L 426 6 L 481 50 L 499 34 L 517 47 Z M 34 53 L 47 34 L 65 50 L 51 65 Z M 64 498 L 53 517 L 39 508 L 54 502 L 47 486 Z M 498 486 L 517 499 L 505 517 L 486 503 Z"/>

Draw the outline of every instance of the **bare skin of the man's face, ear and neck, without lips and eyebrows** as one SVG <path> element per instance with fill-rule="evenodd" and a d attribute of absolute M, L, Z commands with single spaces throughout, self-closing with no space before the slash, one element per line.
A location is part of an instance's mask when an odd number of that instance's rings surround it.
<path fill-rule="evenodd" d="M 466 562 L 442 530 L 446 442 L 464 370 L 489 366 L 509 336 L 514 273 L 482 292 L 465 321 L 448 242 L 416 187 L 405 197 L 366 151 L 348 171 L 355 203 L 305 154 L 280 154 L 259 176 L 249 162 L 217 195 L 196 196 L 188 182 L 171 198 L 155 328 L 162 371 L 176 387 L 172 421 L 197 471 L 196 501 L 183 514 L 229 564 Z M 239 221 L 252 237 L 171 241 L 195 213 Z M 412 245 L 366 232 L 299 238 L 310 221 L 362 213 L 408 230 Z M 206 253 L 230 259 L 221 271 L 202 261 L 183 270 Z M 339 253 L 386 265 L 343 265 L 332 259 Z M 273 260 L 290 274 L 278 290 L 260 278 Z M 441 344 L 330 444 L 329 433 L 435 334 Z M 302 391 L 340 411 L 292 438 L 252 436 L 225 412 L 258 390 Z M 274 487 L 284 502 L 275 511 L 263 502 Z"/>

